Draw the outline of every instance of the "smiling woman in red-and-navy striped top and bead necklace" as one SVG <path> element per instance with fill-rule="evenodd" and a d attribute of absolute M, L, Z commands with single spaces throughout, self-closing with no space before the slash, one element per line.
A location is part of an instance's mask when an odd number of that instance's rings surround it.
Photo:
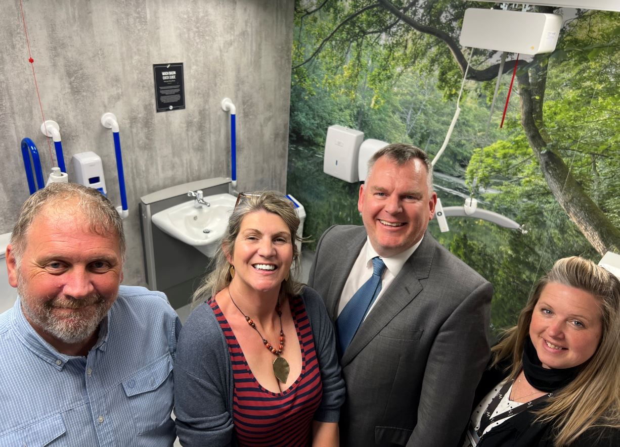
<path fill-rule="evenodd" d="M 239 194 L 179 338 L 182 445 L 338 445 L 344 383 L 321 297 L 294 280 L 298 226 L 281 194 Z"/>

